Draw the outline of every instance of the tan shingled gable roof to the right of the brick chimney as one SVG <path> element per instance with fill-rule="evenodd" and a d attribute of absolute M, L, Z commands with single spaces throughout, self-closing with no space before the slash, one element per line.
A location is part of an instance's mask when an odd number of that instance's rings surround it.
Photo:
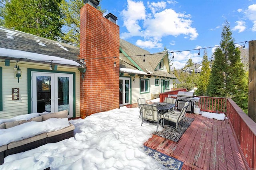
<path fill-rule="evenodd" d="M 134 65 L 134 69 L 144 71 L 152 76 L 164 76 L 168 78 L 176 78 L 174 74 L 170 74 L 168 52 L 159 52 L 150 54 L 150 52 L 137 47 L 123 39 L 120 39 L 120 51 L 124 54 L 127 59 L 124 59 L 124 62 L 129 62 Z M 143 61 L 145 59 L 145 62 Z M 166 72 L 164 70 L 156 70 L 158 64 L 164 59 L 167 66 Z M 120 57 L 120 62 L 122 57 Z"/>

